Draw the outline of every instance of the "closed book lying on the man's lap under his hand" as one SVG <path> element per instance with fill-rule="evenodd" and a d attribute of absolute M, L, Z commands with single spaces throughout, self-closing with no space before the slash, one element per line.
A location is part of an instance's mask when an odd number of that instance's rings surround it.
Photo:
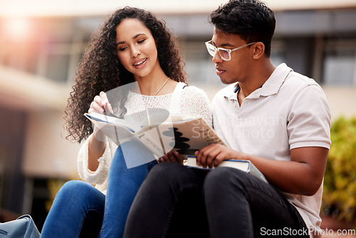
<path fill-rule="evenodd" d="M 197 165 L 197 159 L 195 156 L 187 156 L 187 160 L 184 161 L 184 165 L 188 167 L 193 167 L 201 170 L 212 170 L 211 168 L 204 168 L 201 165 Z M 238 170 L 242 170 L 244 172 L 249 172 L 251 175 L 255 175 L 259 179 L 267 182 L 266 177 L 262 174 L 258 168 L 253 165 L 250 160 L 224 160 L 220 163 L 219 167 L 234 167 Z"/>

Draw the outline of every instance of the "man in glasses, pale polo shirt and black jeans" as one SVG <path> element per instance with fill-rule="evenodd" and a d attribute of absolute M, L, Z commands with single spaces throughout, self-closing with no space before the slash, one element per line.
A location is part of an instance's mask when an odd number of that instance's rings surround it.
<path fill-rule="evenodd" d="M 330 148 L 323 90 L 285 63 L 273 65 L 276 20 L 260 1 L 229 1 L 210 18 L 214 33 L 206 48 L 216 74 L 229 84 L 212 102 L 214 129 L 229 148 L 201 148 L 197 163 L 213 167 L 227 159 L 251 160 L 268 183 L 229 167 L 205 175 L 177 163 L 159 164 L 137 194 L 125 236 L 322 234 L 319 212 Z M 177 224 L 182 227 L 174 229 Z M 184 233 L 188 226 L 197 233 Z"/>

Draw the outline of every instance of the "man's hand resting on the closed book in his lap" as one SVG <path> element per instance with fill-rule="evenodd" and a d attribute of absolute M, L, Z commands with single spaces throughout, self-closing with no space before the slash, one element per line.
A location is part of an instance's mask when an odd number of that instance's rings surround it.
<path fill-rule="evenodd" d="M 223 160 L 243 160 L 244 154 L 224 145 L 211 144 L 195 152 L 197 165 L 210 167 L 220 165 Z"/>

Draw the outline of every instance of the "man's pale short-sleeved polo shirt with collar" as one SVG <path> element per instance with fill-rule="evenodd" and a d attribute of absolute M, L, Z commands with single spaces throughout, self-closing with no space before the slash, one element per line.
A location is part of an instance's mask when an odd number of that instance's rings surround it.
<path fill-rule="evenodd" d="M 290 160 L 290 150 L 300 147 L 330 148 L 330 108 L 313 79 L 279 65 L 266 83 L 237 101 L 236 84 L 214 97 L 214 129 L 230 148 L 270 160 Z M 308 227 L 318 229 L 323 185 L 310 197 L 293 195 Z"/>

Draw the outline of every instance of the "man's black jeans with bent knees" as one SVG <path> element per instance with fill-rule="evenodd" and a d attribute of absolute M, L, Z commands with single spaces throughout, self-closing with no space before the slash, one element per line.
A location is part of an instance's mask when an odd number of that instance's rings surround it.
<path fill-rule="evenodd" d="M 230 167 L 206 173 L 166 162 L 153 167 L 140 187 L 124 237 L 293 237 L 302 230 L 295 237 L 309 237 L 302 217 L 257 177 Z"/>

